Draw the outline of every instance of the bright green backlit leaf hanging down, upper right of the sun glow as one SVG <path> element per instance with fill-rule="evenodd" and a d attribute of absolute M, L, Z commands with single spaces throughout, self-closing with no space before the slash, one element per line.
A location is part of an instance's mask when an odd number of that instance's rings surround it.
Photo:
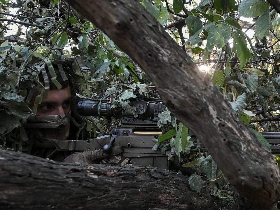
<path fill-rule="evenodd" d="M 236 34 L 233 33 L 233 50 L 237 51 L 237 57 L 239 58 L 241 68 L 246 65 L 247 60 L 251 58 L 250 50 L 247 48 L 245 40 L 242 40 Z"/>

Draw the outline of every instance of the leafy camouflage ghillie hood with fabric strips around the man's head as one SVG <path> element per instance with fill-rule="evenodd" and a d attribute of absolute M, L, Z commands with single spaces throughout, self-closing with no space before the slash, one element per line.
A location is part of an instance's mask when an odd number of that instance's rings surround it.
<path fill-rule="evenodd" d="M 84 139 L 86 137 L 86 123 L 78 115 L 77 103 L 79 99 L 76 96 L 76 94 L 81 95 L 87 92 L 86 80 L 81 71 L 81 68 L 88 69 L 85 64 L 85 59 L 85 57 L 64 59 L 61 55 L 57 55 L 56 60 L 40 62 L 33 57 L 28 64 L 29 68 L 24 69 L 22 73 L 15 71 L 19 70 L 16 66 L 14 69 L 11 69 L 10 66 L 0 66 L 0 84 L 4 79 L 9 81 L 6 84 L 7 94 L 4 98 L 6 101 L 2 102 L 0 100 L 0 117 L 3 119 L 0 122 L 0 149 L 5 149 L 7 146 L 10 147 L 13 145 L 13 148 L 22 151 L 24 145 L 26 146 L 30 136 L 27 135 L 25 126 L 21 125 L 27 119 L 30 119 L 32 115 L 36 114 L 38 104 L 41 103 L 43 97 L 47 96 L 49 90 L 54 89 L 51 85 L 55 85 L 55 89 L 62 88 L 63 85 L 60 84 L 57 77 L 60 77 L 63 82 L 69 84 L 71 88 L 72 101 L 69 139 Z M 16 63 L 16 60 L 14 62 Z M 57 69 L 59 73 L 57 73 Z M 49 76 L 47 76 L 46 70 Z M 41 78 L 39 76 L 40 74 Z M 18 80 L 18 78 L 20 79 Z M 18 85 L 16 85 L 17 81 L 19 81 Z M 3 91 L 0 91 L 0 97 L 1 93 Z M 28 107 L 31 99 L 34 100 L 32 111 Z M 13 126 L 8 126 L 11 124 Z M 6 142 L 7 145 L 5 145 Z"/>

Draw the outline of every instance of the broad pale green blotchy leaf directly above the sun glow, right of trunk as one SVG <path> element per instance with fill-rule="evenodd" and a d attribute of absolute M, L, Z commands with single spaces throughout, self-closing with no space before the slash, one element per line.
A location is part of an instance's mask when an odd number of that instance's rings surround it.
<path fill-rule="evenodd" d="M 209 30 L 207 37 L 207 44 L 212 49 L 215 45 L 218 48 L 223 48 L 228 40 L 231 38 L 231 28 L 224 23 L 217 23 L 215 27 Z"/>

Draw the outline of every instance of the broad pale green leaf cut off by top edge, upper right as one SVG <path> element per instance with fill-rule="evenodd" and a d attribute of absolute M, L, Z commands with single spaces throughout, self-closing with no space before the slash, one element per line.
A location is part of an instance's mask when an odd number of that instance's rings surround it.
<path fill-rule="evenodd" d="M 263 0 L 243 0 L 238 6 L 238 17 L 258 17 L 265 8 Z"/>

